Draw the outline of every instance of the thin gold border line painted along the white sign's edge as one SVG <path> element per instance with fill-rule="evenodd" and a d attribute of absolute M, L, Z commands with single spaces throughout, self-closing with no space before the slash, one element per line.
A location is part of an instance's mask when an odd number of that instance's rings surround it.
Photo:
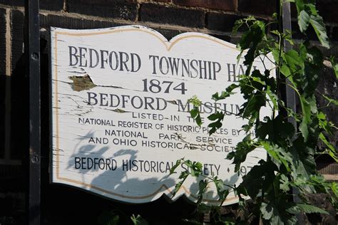
<path fill-rule="evenodd" d="M 163 45 L 165 45 L 165 47 L 167 48 L 167 51 L 170 51 L 171 48 L 173 48 L 173 46 L 175 46 L 176 43 L 178 43 L 179 41 L 186 39 L 186 38 L 204 38 L 204 39 L 219 43 L 220 45 L 225 46 L 227 48 L 232 48 L 232 49 L 237 50 L 237 48 L 230 46 L 230 45 L 227 45 L 227 43 L 224 43 L 224 41 L 218 41 L 216 38 L 211 38 L 210 36 L 202 36 L 202 35 L 199 36 L 199 35 L 196 35 L 196 34 L 191 34 L 191 35 L 187 35 L 187 36 L 177 38 L 177 39 L 175 39 L 175 41 L 168 44 L 168 41 L 167 42 L 163 41 L 163 39 L 160 36 L 158 36 L 157 32 L 155 32 L 155 31 L 153 31 L 153 32 L 145 31 L 142 28 L 128 28 L 128 29 L 123 29 L 123 30 L 112 29 L 110 31 L 101 31 L 101 32 L 92 32 L 92 33 L 69 33 L 69 32 L 66 32 L 66 31 L 54 31 L 54 34 L 55 34 L 54 35 L 54 38 L 55 38 L 55 48 L 54 48 L 55 49 L 54 50 L 55 56 L 54 56 L 54 58 L 55 58 L 55 61 L 56 61 L 56 63 L 54 63 L 54 66 L 55 66 L 55 68 L 54 68 L 54 70 L 55 70 L 54 71 L 54 73 L 55 73 L 55 105 L 56 105 L 56 108 L 55 108 L 55 110 L 56 110 L 56 150 L 59 151 L 59 147 L 60 147 L 59 137 L 58 137 L 58 134 L 59 134 L 59 127 L 58 127 L 58 63 L 57 63 L 57 61 L 58 61 L 58 54 L 57 54 L 57 42 L 58 42 L 57 37 L 58 37 L 58 34 L 59 35 L 67 35 L 67 36 L 93 36 L 93 35 L 99 35 L 99 34 L 108 34 L 108 33 L 124 32 L 124 31 L 140 31 L 140 32 L 145 32 L 145 33 L 148 33 L 152 36 L 155 36 L 155 38 L 158 38 L 158 40 L 161 43 L 163 43 Z M 147 198 L 155 196 L 162 189 L 165 189 L 170 194 L 173 193 L 173 191 L 170 190 L 170 188 L 168 188 L 165 184 L 162 184 L 157 190 L 155 190 L 155 192 L 153 192 L 151 194 L 131 197 L 131 196 L 127 196 L 127 195 L 124 195 L 124 194 L 117 194 L 115 192 L 108 191 L 108 190 L 103 189 L 101 187 L 97 187 L 93 184 L 87 184 L 87 183 L 84 183 L 84 182 L 80 182 L 76 179 L 69 179 L 69 178 L 66 178 L 66 177 L 60 177 L 60 174 L 59 174 L 59 166 L 60 166 L 59 159 L 60 159 L 59 152 L 57 152 L 56 153 L 56 179 L 58 179 L 59 181 L 70 182 L 70 183 L 73 183 L 73 184 L 80 184 L 83 187 L 96 189 L 98 192 L 111 194 L 113 196 L 121 197 L 121 198 L 125 198 L 125 199 L 147 199 Z M 180 189 L 183 189 L 185 194 L 188 194 L 188 197 L 193 197 L 194 199 L 198 199 L 198 197 L 196 197 L 194 194 L 192 194 L 184 185 L 182 185 Z M 238 199 L 238 197 L 232 197 L 232 198 L 226 199 L 224 202 L 230 202 L 233 199 Z M 204 199 L 204 201 L 205 202 L 212 202 L 212 203 L 219 203 L 220 202 L 220 201 L 214 200 L 214 199 Z"/>

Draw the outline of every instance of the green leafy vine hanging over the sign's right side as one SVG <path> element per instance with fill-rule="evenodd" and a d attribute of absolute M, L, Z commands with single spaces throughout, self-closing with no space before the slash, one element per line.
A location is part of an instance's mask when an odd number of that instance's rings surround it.
<path fill-rule="evenodd" d="M 285 1 L 281 1 L 280 9 Z M 325 31 L 322 17 L 319 16 L 314 1 L 290 0 L 297 8 L 297 19 L 299 30 L 306 36 L 309 26 L 314 28 L 319 42 L 324 48 L 329 48 L 329 40 Z M 280 24 L 280 19 L 274 15 L 273 23 Z M 224 202 L 230 192 L 235 192 L 240 199 L 240 205 L 245 206 L 245 198 L 250 197 L 255 202 L 255 216 L 262 219 L 264 223 L 270 224 L 295 224 L 295 214 L 319 213 L 327 214 L 323 209 L 310 205 L 304 196 L 312 193 L 329 193 L 330 200 L 337 207 L 338 195 L 337 184 L 327 183 L 317 172 L 314 161 L 316 154 L 327 154 L 338 162 L 337 150 L 329 138 L 337 127 L 327 120 L 321 108 L 317 108 L 316 88 L 320 73 L 323 70 L 324 57 L 316 46 L 311 46 L 305 39 L 299 43 L 299 51 L 291 49 L 285 51 L 285 41 L 292 46 L 292 33 L 282 31 L 270 31 L 263 21 L 256 20 L 253 16 L 240 19 L 235 23 L 234 32 L 245 28 L 242 38 L 237 47 L 240 54 L 237 56 L 239 62 L 244 56 L 244 65 L 247 66 L 245 74 L 240 76 L 237 83 L 233 83 L 221 93 L 212 95 L 212 100 L 225 100 L 229 98 L 236 89 L 240 90 L 245 103 L 241 105 L 238 116 L 247 120 L 242 126 L 246 132 L 245 138 L 238 142 L 235 151 L 227 155 L 227 159 L 235 164 L 235 172 L 238 172 L 242 162 L 247 155 L 257 147 L 262 147 L 267 152 L 267 159 L 260 160 L 259 164 L 252 167 L 238 187 L 224 184 L 217 177 L 203 177 L 199 183 L 198 204 L 203 202 L 203 194 L 208 185 L 214 183 L 220 202 Z M 276 38 L 278 41 L 276 42 Z M 270 58 L 274 58 L 272 61 Z M 253 67 L 255 59 L 264 62 L 268 58 L 275 64 L 277 76 L 272 70 L 265 68 L 262 72 Z M 332 68 L 336 75 L 338 66 L 331 58 Z M 338 77 L 338 75 L 337 75 Z M 300 112 L 287 108 L 282 100 L 280 88 L 289 85 L 297 93 Z M 327 106 L 337 106 L 338 101 L 324 95 Z M 200 100 L 195 96 L 190 99 L 194 105 L 190 111 L 191 117 L 198 125 L 202 125 L 199 107 Z M 272 115 L 260 118 L 262 108 L 269 106 Z M 279 112 L 278 115 L 275 112 Z M 289 119 L 295 120 L 294 127 Z M 225 120 L 225 112 L 218 110 L 208 116 L 211 120 L 208 127 L 212 135 L 222 127 Z M 255 136 L 252 137 L 252 130 Z M 322 142 L 326 150 L 318 150 L 318 143 Z M 180 174 L 180 182 L 176 184 L 173 194 L 178 192 L 188 176 L 202 176 L 202 164 L 180 159 L 173 167 L 171 173 L 180 165 L 185 164 L 188 168 Z M 297 190 L 301 202 L 294 202 L 291 190 Z"/>

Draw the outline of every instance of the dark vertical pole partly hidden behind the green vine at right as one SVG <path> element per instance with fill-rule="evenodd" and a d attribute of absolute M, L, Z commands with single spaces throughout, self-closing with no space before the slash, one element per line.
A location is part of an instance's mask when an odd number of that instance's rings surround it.
<path fill-rule="evenodd" d="M 278 1 L 280 2 L 280 1 Z M 278 3 L 280 4 L 280 3 Z M 286 2 L 282 4 L 282 29 L 283 32 L 286 33 L 287 30 L 292 31 L 291 27 L 291 9 L 290 9 L 290 2 Z M 292 49 L 291 44 L 288 41 L 284 40 L 284 51 L 290 51 Z M 296 93 L 295 90 L 293 90 L 290 85 L 290 81 L 286 80 L 287 85 L 285 86 L 285 100 L 287 108 L 292 109 L 294 112 L 296 112 Z M 292 125 L 297 129 L 297 122 L 295 118 L 289 117 L 289 122 L 292 123 Z M 292 194 L 293 194 L 293 201 L 299 202 L 299 192 L 297 189 L 292 188 Z M 297 222 L 298 224 L 304 224 L 304 219 L 302 214 L 296 214 Z"/>

